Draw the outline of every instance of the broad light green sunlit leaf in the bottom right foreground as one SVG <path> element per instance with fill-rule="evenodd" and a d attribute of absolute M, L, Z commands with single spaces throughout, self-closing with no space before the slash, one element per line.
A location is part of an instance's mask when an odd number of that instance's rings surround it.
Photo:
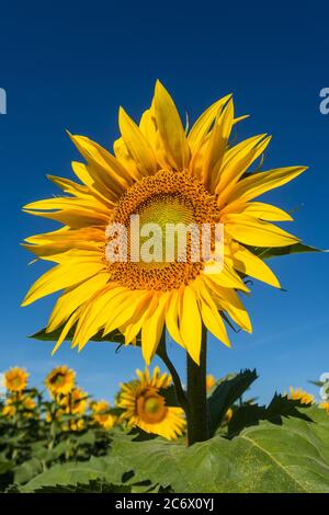
<path fill-rule="evenodd" d="M 122 435 L 112 444 L 112 456 L 134 470 L 131 482 L 149 480 L 180 493 L 329 493 L 329 416 L 318 408 L 307 413 L 317 423 L 264 421 L 231 440 L 215 436 L 189 448 Z"/>

